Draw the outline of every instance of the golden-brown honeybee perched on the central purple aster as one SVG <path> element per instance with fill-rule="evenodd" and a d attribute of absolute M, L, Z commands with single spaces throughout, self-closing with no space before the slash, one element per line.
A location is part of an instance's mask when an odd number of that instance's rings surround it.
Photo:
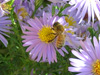
<path fill-rule="evenodd" d="M 59 22 L 55 22 L 53 24 L 52 29 L 55 31 L 55 35 L 56 35 L 55 38 L 57 38 L 56 47 L 57 49 L 61 49 L 65 44 L 65 38 L 66 38 L 66 35 L 64 34 L 65 28 Z"/>

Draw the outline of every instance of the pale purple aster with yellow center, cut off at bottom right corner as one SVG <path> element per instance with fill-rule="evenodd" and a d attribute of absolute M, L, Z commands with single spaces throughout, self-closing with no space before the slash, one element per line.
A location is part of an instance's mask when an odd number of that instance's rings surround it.
<path fill-rule="evenodd" d="M 100 75 L 100 35 L 99 41 L 93 37 L 93 44 L 89 38 L 80 41 L 82 49 L 72 50 L 77 58 L 70 58 L 71 65 L 68 70 L 78 72 L 77 75 Z"/>

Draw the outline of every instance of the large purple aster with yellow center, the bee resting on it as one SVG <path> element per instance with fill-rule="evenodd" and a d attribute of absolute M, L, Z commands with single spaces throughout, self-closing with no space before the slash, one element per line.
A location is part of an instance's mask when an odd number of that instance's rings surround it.
<path fill-rule="evenodd" d="M 59 22 L 65 25 L 66 22 L 64 17 L 59 18 L 58 16 L 53 16 L 52 14 L 43 13 L 43 17 L 30 19 L 27 21 L 30 26 L 24 26 L 26 31 L 25 35 L 22 36 L 23 46 L 29 46 L 26 52 L 29 52 L 32 60 L 39 62 L 48 61 L 57 62 L 56 51 L 58 51 L 62 56 L 64 52 L 68 53 L 64 47 L 58 49 L 56 47 L 56 38 L 54 30 L 52 29 L 55 22 Z"/>

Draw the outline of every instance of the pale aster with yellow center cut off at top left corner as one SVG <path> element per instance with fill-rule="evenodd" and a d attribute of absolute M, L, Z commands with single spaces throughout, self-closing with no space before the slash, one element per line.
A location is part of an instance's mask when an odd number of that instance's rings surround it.
<path fill-rule="evenodd" d="M 8 10 L 11 8 L 9 4 L 6 4 L 10 0 L 0 0 L 0 17 L 5 13 L 8 13 Z"/>

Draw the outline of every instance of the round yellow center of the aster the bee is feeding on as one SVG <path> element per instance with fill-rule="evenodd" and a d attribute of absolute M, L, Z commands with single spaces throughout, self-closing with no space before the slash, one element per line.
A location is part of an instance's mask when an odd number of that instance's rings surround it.
<path fill-rule="evenodd" d="M 43 26 L 38 35 L 40 40 L 45 43 L 52 42 L 56 37 L 55 31 L 50 26 Z"/>

